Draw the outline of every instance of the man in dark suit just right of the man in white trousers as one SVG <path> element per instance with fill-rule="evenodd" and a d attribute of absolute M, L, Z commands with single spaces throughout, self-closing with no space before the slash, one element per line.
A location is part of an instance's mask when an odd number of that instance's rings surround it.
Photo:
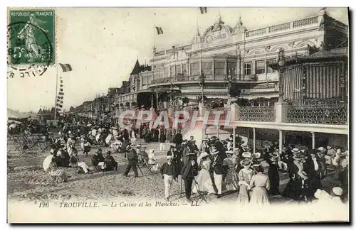
<path fill-rule="evenodd" d="M 185 197 L 187 201 L 190 202 L 190 196 L 192 195 L 192 183 L 194 177 L 198 175 L 198 165 L 196 161 L 196 156 L 194 154 L 189 154 L 189 160 L 182 168 L 182 179 L 184 180 L 185 187 Z"/>

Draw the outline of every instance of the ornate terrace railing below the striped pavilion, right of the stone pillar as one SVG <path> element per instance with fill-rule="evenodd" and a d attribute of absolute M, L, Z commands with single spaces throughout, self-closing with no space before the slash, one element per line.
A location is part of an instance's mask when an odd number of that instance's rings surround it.
<path fill-rule="evenodd" d="M 287 122 L 308 124 L 347 124 L 347 104 L 289 106 Z"/>

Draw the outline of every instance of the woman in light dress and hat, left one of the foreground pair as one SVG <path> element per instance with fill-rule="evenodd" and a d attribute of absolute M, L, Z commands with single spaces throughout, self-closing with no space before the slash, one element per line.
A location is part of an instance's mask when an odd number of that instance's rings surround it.
<path fill-rule="evenodd" d="M 253 176 L 253 170 L 250 168 L 252 160 L 244 159 L 241 160 L 241 165 L 244 167 L 239 171 L 239 196 L 237 197 L 237 202 L 240 205 L 248 204 L 250 201 L 250 182 Z"/>

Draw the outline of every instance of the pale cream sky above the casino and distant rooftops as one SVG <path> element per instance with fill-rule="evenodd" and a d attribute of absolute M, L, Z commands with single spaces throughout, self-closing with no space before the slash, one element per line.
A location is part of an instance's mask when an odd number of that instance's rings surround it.
<path fill-rule="evenodd" d="M 190 43 L 197 31 L 212 26 L 220 14 L 234 27 L 241 15 L 252 30 L 298 18 L 315 16 L 319 8 L 57 8 L 56 52 L 59 63 L 69 63 L 72 72 L 61 73 L 64 85 L 63 109 L 78 106 L 120 87 L 128 80 L 138 57 L 140 64 L 157 50 Z M 330 16 L 348 24 L 346 8 L 328 8 Z M 156 14 L 156 16 L 155 16 Z M 157 35 L 154 25 L 162 27 Z M 55 103 L 56 67 L 40 77 L 15 77 L 7 81 L 8 108 L 38 111 Z"/>

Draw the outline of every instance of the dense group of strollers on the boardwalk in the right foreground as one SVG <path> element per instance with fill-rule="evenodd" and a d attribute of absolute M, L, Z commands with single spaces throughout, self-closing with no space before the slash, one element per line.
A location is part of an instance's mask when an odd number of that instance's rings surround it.
<path fill-rule="evenodd" d="M 241 140 L 241 139 L 240 139 Z M 263 153 L 251 153 L 246 143 L 238 141 L 232 148 L 231 138 L 204 139 L 197 148 L 194 137 L 172 146 L 167 153 L 161 173 L 164 177 L 165 197 L 169 200 L 169 187 L 178 175 L 184 180 L 186 199 L 192 190 L 200 190 L 222 196 L 223 182 L 227 191 L 237 192 L 239 204 L 268 204 L 268 197 L 282 195 L 298 202 L 313 202 L 325 195 L 322 180 L 328 174 L 327 167 L 335 169 L 337 185 L 333 197 L 347 202 L 348 197 L 348 151 L 332 146 L 320 147 L 313 152 L 295 148 L 293 145 L 278 149 L 278 143 L 266 146 Z M 262 161 L 268 164 L 265 170 Z M 289 182 L 280 192 L 280 172 L 289 175 Z M 193 183 L 193 181 L 197 183 Z M 229 194 L 229 192 L 225 193 Z"/>

